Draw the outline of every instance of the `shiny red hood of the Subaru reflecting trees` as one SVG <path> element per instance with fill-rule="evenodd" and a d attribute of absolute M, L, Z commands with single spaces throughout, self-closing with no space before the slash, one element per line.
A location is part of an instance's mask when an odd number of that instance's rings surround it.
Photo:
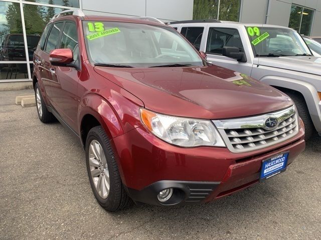
<path fill-rule="evenodd" d="M 292 104 L 277 89 L 215 65 L 94 69 L 140 98 L 147 109 L 170 115 L 222 119 L 262 114 Z"/>

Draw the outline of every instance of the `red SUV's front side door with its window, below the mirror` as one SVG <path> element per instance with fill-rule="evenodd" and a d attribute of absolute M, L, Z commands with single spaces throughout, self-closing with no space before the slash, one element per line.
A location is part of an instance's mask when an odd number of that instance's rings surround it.
<path fill-rule="evenodd" d="M 78 46 L 78 33 L 76 23 L 67 20 L 62 34 L 61 40 L 57 48 L 69 48 L 73 52 L 74 63 L 77 67 L 67 66 L 51 66 L 52 71 L 52 102 L 56 111 L 77 131 L 77 112 L 78 112 L 78 96 L 77 87 L 80 77 L 80 57 Z"/>

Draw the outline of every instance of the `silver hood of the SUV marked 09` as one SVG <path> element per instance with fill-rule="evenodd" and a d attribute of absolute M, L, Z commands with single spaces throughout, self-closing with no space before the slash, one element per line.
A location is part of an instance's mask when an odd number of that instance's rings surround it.
<path fill-rule="evenodd" d="M 257 57 L 254 63 L 321 75 L 321 57 L 317 56 Z"/>

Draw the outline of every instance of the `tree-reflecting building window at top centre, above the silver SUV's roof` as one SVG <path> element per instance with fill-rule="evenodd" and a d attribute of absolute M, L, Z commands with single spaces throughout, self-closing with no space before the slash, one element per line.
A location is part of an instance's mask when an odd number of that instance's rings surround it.
<path fill-rule="evenodd" d="M 239 21 L 241 0 L 194 0 L 193 19 Z"/>

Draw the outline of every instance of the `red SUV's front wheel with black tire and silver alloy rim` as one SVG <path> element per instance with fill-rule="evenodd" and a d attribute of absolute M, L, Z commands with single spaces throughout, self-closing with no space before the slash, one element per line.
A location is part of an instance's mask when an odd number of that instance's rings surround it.
<path fill-rule="evenodd" d="M 95 126 L 88 132 L 86 165 L 91 189 L 105 210 L 117 211 L 131 204 L 109 138 L 101 126 Z"/>

